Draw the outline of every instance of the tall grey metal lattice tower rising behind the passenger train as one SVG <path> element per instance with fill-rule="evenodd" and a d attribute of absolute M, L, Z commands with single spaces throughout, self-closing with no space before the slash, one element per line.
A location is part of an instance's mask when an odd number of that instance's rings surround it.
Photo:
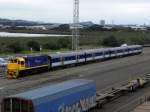
<path fill-rule="evenodd" d="M 72 28 L 72 50 L 79 48 L 79 0 L 74 0 L 73 28 Z"/>

